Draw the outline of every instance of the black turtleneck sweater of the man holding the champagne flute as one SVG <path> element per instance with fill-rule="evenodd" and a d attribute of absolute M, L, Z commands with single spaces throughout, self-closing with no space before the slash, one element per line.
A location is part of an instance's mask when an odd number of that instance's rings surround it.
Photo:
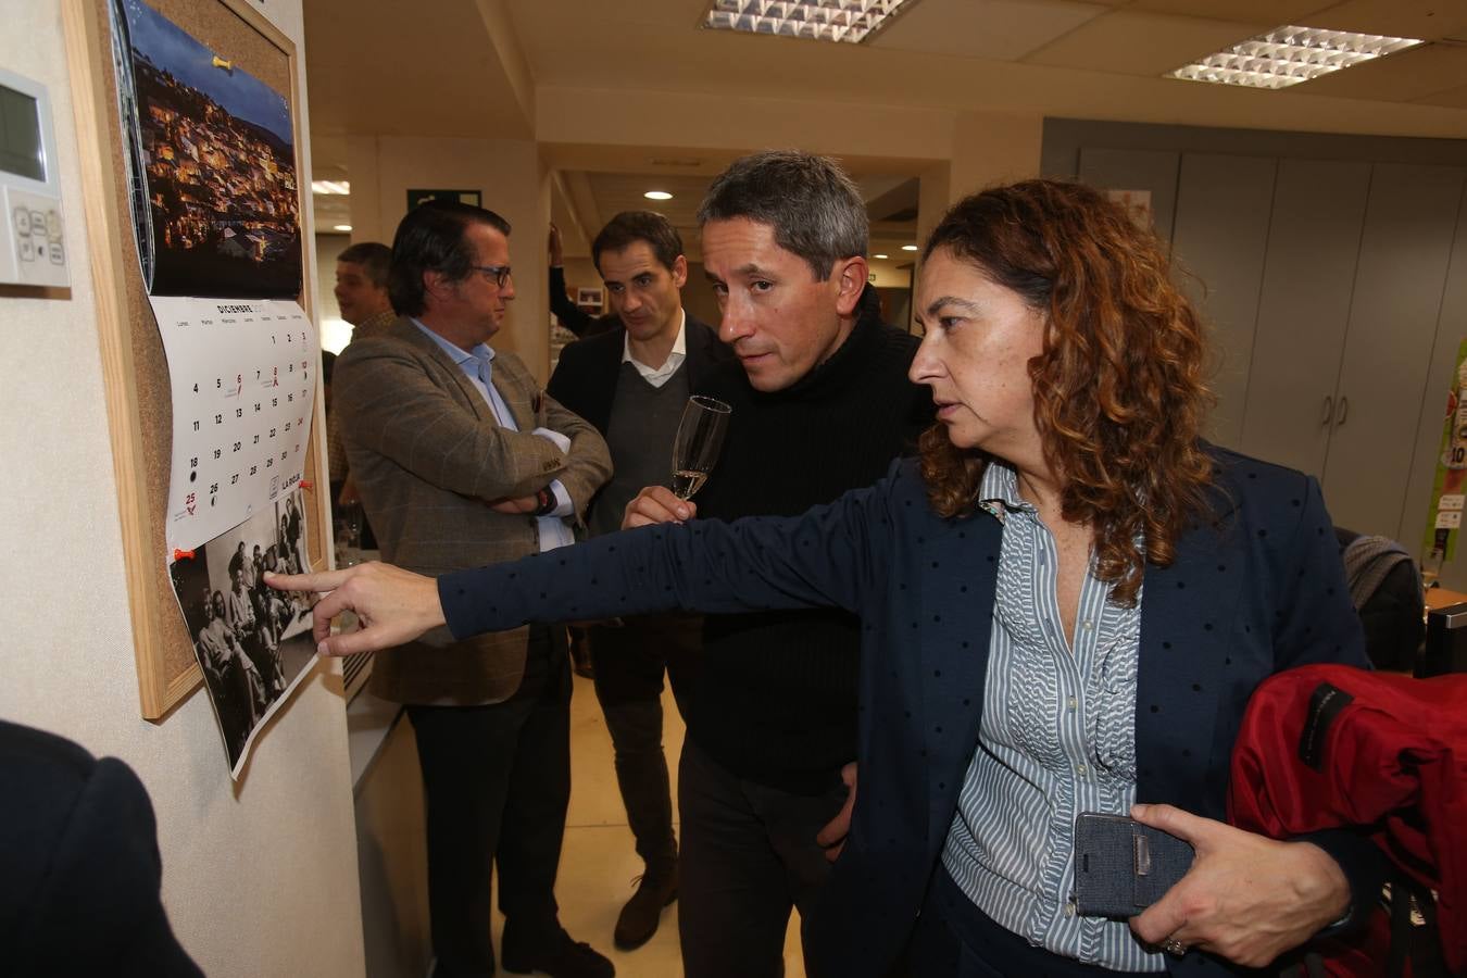
<path fill-rule="evenodd" d="M 716 378 L 734 416 L 700 518 L 802 513 L 915 449 L 932 421 L 929 389 L 907 380 L 917 337 L 863 299 L 845 343 L 791 387 L 756 391 L 738 364 Z M 824 792 L 855 760 L 858 672 L 858 620 L 845 611 L 709 616 L 688 736 L 738 777 Z"/>

